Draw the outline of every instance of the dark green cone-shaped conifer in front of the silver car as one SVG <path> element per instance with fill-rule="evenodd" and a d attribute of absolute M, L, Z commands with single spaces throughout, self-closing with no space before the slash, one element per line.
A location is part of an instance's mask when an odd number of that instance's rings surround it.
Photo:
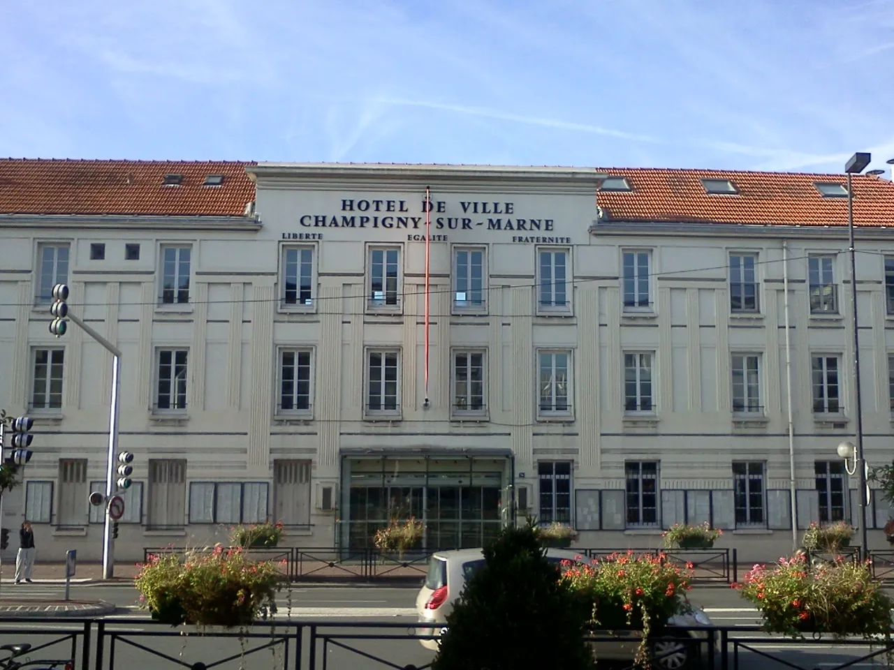
<path fill-rule="evenodd" d="M 590 607 L 544 557 L 536 527 L 510 526 L 447 616 L 433 670 L 592 670 Z"/>

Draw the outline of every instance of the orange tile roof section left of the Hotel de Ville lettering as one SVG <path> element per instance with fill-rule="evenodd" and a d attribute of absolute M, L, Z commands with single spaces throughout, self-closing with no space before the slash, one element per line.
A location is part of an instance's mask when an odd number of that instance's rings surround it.
<path fill-rule="evenodd" d="M 0 214 L 241 216 L 255 199 L 249 164 L 0 159 Z M 162 185 L 169 173 L 180 186 Z M 202 186 L 208 174 L 223 184 Z"/>

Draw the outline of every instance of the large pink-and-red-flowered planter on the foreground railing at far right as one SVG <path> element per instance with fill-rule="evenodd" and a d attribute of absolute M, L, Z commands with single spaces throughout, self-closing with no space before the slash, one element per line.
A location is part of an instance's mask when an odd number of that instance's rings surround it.
<path fill-rule="evenodd" d="M 756 564 L 733 588 L 754 603 L 769 632 L 793 638 L 804 632 L 890 636 L 894 602 L 873 580 L 867 563 L 839 557 L 808 566 L 804 555 L 780 558 L 772 568 Z"/>

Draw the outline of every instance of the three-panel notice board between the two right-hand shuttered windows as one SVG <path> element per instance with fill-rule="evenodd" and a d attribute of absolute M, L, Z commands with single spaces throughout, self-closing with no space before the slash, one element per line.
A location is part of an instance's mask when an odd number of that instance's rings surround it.
<path fill-rule="evenodd" d="M 191 482 L 190 523 L 264 523 L 267 482 Z"/>

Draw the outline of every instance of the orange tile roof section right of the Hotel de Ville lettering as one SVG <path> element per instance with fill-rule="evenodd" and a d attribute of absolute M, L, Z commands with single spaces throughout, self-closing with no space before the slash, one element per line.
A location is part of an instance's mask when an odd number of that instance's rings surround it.
<path fill-rule="evenodd" d="M 842 174 L 736 172 L 653 168 L 598 168 L 626 177 L 632 192 L 600 192 L 610 221 L 716 222 L 844 226 L 848 198 L 822 197 L 814 182 L 847 184 Z M 700 180 L 730 180 L 738 195 L 709 195 Z M 854 223 L 894 226 L 894 184 L 854 175 Z"/>

